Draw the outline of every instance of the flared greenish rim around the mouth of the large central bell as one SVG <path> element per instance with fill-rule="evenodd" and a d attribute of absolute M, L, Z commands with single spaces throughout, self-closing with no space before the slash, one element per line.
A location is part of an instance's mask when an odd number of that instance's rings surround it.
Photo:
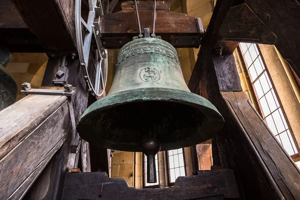
<path fill-rule="evenodd" d="M 160 95 L 157 95 L 157 91 Z M 178 93 L 180 93 L 180 95 L 178 95 Z M 175 149 L 181 147 L 188 147 L 206 141 L 212 138 L 215 134 L 217 134 L 224 124 L 224 119 L 221 116 L 221 114 L 218 112 L 218 110 L 215 108 L 215 106 L 200 95 L 194 94 L 189 91 L 181 90 L 181 89 L 148 87 L 148 88 L 137 88 L 137 89 L 119 91 L 116 93 L 109 94 L 92 103 L 83 112 L 82 116 L 78 121 L 76 128 L 79 135 L 81 136 L 81 138 L 87 141 L 88 138 L 90 138 L 88 135 L 84 134 L 84 130 L 86 127 L 86 124 L 84 123 L 86 123 L 86 121 L 89 121 L 87 120 L 88 117 L 94 115 L 95 113 L 98 113 L 99 111 L 104 111 L 106 109 L 109 109 L 113 106 L 117 106 L 119 104 L 132 103 L 137 101 L 173 101 L 176 103 L 182 103 L 199 109 L 206 117 L 204 121 L 205 125 L 203 126 L 203 130 L 201 131 L 198 130 L 191 136 L 187 137 L 185 140 L 179 140 L 170 143 L 162 143 L 160 150 L 169 150 L 169 149 Z M 205 110 L 207 110 L 207 112 L 203 112 Z M 90 123 L 89 125 L 91 125 L 92 122 L 89 121 L 88 123 Z M 93 140 L 90 142 L 92 143 Z M 97 143 L 94 144 L 97 145 Z M 110 146 L 105 146 L 105 145 L 104 146 L 101 145 L 101 146 L 106 148 L 111 148 Z M 124 150 L 124 151 L 142 151 L 138 148 L 139 147 L 136 147 L 134 150 L 127 147 L 112 148 L 112 149 Z"/>

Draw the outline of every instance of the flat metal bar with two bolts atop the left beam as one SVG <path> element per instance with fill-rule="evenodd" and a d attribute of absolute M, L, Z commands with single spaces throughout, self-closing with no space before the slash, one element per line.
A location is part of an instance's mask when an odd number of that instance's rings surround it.
<path fill-rule="evenodd" d="M 60 95 L 60 96 L 72 96 L 75 90 L 72 90 L 71 84 L 64 85 L 64 90 L 60 89 L 33 89 L 30 83 L 23 83 L 21 94 L 42 94 L 42 95 Z"/>

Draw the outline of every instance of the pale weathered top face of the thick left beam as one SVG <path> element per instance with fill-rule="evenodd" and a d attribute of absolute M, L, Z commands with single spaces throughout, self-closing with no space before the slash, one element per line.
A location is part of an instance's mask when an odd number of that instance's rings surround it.
<path fill-rule="evenodd" d="M 66 99 L 66 96 L 28 95 L 1 110 L 0 159 L 34 130 L 36 124 L 40 124 L 57 107 L 61 106 Z"/>

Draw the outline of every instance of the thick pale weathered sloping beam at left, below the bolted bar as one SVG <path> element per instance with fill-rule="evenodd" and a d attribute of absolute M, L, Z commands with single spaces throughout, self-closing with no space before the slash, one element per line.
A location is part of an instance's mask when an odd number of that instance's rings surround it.
<path fill-rule="evenodd" d="M 0 118 L 0 199 L 19 199 L 65 139 L 67 97 L 28 95 Z"/>

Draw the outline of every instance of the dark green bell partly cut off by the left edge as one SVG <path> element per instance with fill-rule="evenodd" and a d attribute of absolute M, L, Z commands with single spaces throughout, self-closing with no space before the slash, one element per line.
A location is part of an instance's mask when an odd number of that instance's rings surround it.
<path fill-rule="evenodd" d="M 0 47 L 0 110 L 14 103 L 17 94 L 16 82 L 4 68 L 10 59 L 8 49 Z"/>

